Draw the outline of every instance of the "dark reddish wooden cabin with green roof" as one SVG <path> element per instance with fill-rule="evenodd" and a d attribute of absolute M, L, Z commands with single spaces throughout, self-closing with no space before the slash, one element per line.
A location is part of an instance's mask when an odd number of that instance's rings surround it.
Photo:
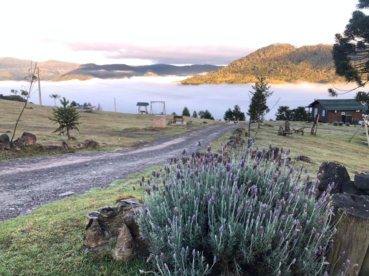
<path fill-rule="evenodd" d="M 323 123 L 358 123 L 363 118 L 363 110 L 367 108 L 355 99 L 324 99 L 315 100 L 307 106 L 311 108 L 311 121 L 319 114 Z"/>

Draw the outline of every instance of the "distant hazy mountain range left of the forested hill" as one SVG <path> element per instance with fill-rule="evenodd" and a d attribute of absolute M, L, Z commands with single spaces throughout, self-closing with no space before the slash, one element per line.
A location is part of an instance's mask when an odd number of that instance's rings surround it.
<path fill-rule="evenodd" d="M 152 64 L 145 66 L 128 66 L 126 64 L 96 65 L 69 63 L 57 60 L 48 60 L 37 63 L 41 77 L 45 81 L 66 81 L 70 79 L 86 80 L 91 78 L 119 79 L 134 76 L 190 76 L 206 74 L 221 69 L 215 65 L 174 66 L 168 64 Z M 31 66 L 30 60 L 0 58 L 0 81 L 23 80 Z"/>

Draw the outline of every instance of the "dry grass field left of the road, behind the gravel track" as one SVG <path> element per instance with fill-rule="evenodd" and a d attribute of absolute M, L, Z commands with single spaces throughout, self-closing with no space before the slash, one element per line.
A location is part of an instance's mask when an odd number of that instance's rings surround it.
<path fill-rule="evenodd" d="M 20 137 L 23 132 L 30 132 L 37 137 L 37 143 L 42 145 L 61 145 L 67 140 L 66 136 L 58 136 L 52 133 L 56 129 L 48 117 L 52 117 L 52 106 L 39 107 L 30 104 L 32 109 L 25 109 L 18 124 L 14 139 Z M 0 100 L 0 134 L 13 131 L 14 124 L 22 108 L 21 102 Z M 219 123 L 219 121 L 205 120 L 199 118 L 184 117 L 184 121 L 192 120 L 190 125 L 167 125 L 166 128 L 154 128 L 154 115 L 138 115 L 115 113 L 107 111 L 93 111 L 91 113 L 80 113 L 79 131 L 72 131 L 71 136 L 75 141 L 67 141 L 71 149 L 77 142 L 85 139 L 93 139 L 100 143 L 100 150 L 110 151 L 116 148 L 130 148 L 137 145 L 154 141 L 158 137 L 182 134 L 193 128 L 204 126 L 200 124 L 206 121 L 208 124 Z M 167 123 L 173 116 L 166 117 Z M 10 138 L 11 138 L 10 134 Z M 119 139 L 120 138 L 120 139 Z M 91 150 L 91 149 L 89 149 Z M 78 151 L 86 151 L 85 149 Z M 22 151 L 0 152 L 0 160 L 11 158 L 22 158 L 36 155 L 60 154 L 62 151 L 50 152 L 37 148 L 26 148 Z"/>

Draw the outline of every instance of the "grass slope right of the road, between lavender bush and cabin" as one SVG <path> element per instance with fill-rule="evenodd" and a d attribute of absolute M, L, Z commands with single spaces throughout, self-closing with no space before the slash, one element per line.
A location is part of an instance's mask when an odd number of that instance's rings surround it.
<path fill-rule="evenodd" d="M 242 125 L 242 127 L 245 127 L 245 125 Z M 307 129 L 304 135 L 292 134 L 292 137 L 283 137 L 277 135 L 278 127 L 263 126 L 262 128 L 265 129 L 256 136 L 255 145 L 259 145 L 260 147 L 265 146 L 267 151 L 269 150 L 269 143 L 272 143 L 272 145 L 278 148 L 290 149 L 292 159 L 297 154 L 310 157 L 313 162 L 305 162 L 304 166 L 308 167 L 310 175 L 314 178 L 320 165 L 327 161 L 343 164 L 350 174 L 351 179 L 354 178 L 354 171 L 356 169 L 369 169 L 366 163 L 369 148 L 361 142 L 366 141 L 366 136 L 363 134 L 357 134 L 348 143 L 349 138 L 353 135 L 352 132 L 338 132 L 318 128 L 316 136 L 311 135 L 310 129 Z M 355 128 L 352 127 L 352 129 Z M 256 128 L 251 128 L 251 137 L 254 136 L 255 131 Z M 232 131 L 211 143 L 214 152 L 220 147 L 220 142 L 228 142 L 230 140 L 231 133 Z M 245 140 L 245 137 L 242 138 Z M 302 164 L 303 162 L 297 162 L 295 166 L 301 166 Z"/>

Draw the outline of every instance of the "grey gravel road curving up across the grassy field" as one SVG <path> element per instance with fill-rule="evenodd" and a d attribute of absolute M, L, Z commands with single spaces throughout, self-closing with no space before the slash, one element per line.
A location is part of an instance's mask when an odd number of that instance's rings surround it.
<path fill-rule="evenodd" d="M 184 148 L 203 150 L 240 124 L 214 124 L 134 150 L 71 153 L 0 162 L 0 221 L 28 214 L 37 206 L 56 201 L 67 191 L 83 194 L 106 187 L 115 179 L 169 161 Z M 202 146 L 197 146 L 200 140 Z"/>

